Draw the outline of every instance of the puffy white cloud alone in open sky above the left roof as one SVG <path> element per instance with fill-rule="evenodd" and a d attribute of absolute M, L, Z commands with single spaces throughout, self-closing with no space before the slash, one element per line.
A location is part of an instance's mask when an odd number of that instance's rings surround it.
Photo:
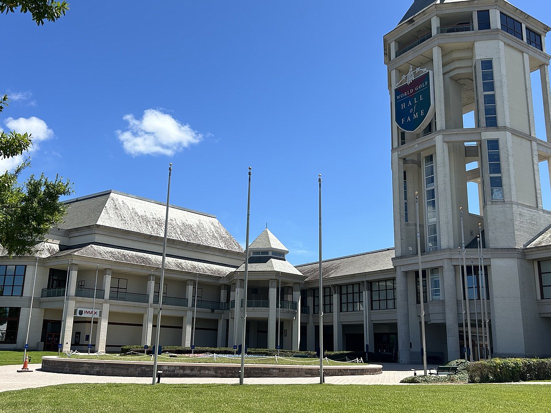
<path fill-rule="evenodd" d="M 122 119 L 128 121 L 128 130 L 118 130 L 116 134 L 125 152 L 134 156 L 173 155 L 203 138 L 190 125 L 181 124 L 174 117 L 155 109 L 145 110 L 142 119 L 136 119 L 134 115 L 125 115 Z"/>

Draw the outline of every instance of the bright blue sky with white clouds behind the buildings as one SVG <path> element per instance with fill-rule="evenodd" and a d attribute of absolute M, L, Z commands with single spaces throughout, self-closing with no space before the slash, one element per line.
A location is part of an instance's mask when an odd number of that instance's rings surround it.
<path fill-rule="evenodd" d="M 1 15 L 0 127 L 34 131 L 31 171 L 72 197 L 114 189 L 266 225 L 293 264 L 393 246 L 382 37 L 412 0 L 72 1 L 37 27 Z M 514 4 L 551 24 L 548 1 Z"/>

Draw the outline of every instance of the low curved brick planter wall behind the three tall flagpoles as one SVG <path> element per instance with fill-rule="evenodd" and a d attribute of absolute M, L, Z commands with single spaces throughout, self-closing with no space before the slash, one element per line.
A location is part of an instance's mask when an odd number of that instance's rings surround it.
<path fill-rule="evenodd" d="M 42 370 L 51 373 L 91 374 L 93 376 L 149 377 L 153 362 L 84 360 L 79 358 L 42 357 Z M 163 377 L 239 377 L 240 364 L 157 363 Z M 325 376 L 381 374 L 379 364 L 324 366 Z M 320 366 L 284 366 L 283 364 L 245 364 L 245 377 L 317 377 Z"/>

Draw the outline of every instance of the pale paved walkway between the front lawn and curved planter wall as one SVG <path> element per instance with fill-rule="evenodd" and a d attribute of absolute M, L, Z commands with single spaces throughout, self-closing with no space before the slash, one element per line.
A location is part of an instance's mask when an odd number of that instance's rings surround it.
<path fill-rule="evenodd" d="M 399 384 L 404 377 L 413 376 L 412 368 L 418 374 L 423 374 L 423 366 L 419 364 L 381 363 L 382 374 L 372 376 L 334 376 L 326 377 L 328 384 Z M 40 369 L 41 364 L 29 364 L 33 372 L 18 373 L 21 366 L 0 366 L 0 391 L 20 390 L 34 387 L 44 387 L 56 384 L 69 383 L 137 383 L 151 384 L 152 377 L 112 377 L 112 376 L 85 376 L 83 374 L 47 373 Z M 435 366 L 431 366 L 435 367 Z M 298 378 L 246 378 L 245 384 L 317 384 L 317 377 Z M 161 378 L 161 383 L 170 384 L 237 384 L 237 378 Z"/>

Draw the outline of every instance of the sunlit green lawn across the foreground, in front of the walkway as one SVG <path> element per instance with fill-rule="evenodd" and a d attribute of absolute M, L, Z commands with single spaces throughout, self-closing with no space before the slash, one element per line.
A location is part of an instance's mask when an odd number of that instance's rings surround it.
<path fill-rule="evenodd" d="M 550 395 L 541 384 L 67 384 L 0 393 L 0 412 L 548 413 Z"/>

